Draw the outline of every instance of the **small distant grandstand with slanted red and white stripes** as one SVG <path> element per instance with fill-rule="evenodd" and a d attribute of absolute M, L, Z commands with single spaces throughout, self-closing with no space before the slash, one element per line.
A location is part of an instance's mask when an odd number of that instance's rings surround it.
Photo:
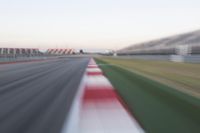
<path fill-rule="evenodd" d="M 74 49 L 48 49 L 46 51 L 47 55 L 70 55 L 70 54 L 75 54 Z"/>

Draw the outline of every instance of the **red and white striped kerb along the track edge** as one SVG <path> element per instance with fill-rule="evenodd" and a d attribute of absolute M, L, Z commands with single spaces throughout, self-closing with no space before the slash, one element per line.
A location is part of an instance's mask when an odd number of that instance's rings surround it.
<path fill-rule="evenodd" d="M 80 133 L 143 133 L 93 59 L 86 70 Z"/>

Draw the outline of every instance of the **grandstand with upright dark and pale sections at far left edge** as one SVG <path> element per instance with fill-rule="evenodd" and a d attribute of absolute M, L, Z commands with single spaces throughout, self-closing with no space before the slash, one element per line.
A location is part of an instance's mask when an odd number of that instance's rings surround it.
<path fill-rule="evenodd" d="M 37 48 L 0 48 L 0 57 L 38 56 L 41 54 Z"/>

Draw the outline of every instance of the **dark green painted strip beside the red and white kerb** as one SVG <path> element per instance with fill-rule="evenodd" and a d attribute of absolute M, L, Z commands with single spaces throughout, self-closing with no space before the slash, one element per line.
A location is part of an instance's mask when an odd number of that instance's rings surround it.
<path fill-rule="evenodd" d="M 99 58 L 96 62 L 146 132 L 200 132 L 198 98 Z"/>

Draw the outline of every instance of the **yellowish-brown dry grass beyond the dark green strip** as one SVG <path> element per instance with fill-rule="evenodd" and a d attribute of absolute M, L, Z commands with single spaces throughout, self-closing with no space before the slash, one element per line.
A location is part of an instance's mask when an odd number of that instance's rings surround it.
<path fill-rule="evenodd" d="M 103 57 L 102 60 L 200 97 L 200 64 Z"/>

